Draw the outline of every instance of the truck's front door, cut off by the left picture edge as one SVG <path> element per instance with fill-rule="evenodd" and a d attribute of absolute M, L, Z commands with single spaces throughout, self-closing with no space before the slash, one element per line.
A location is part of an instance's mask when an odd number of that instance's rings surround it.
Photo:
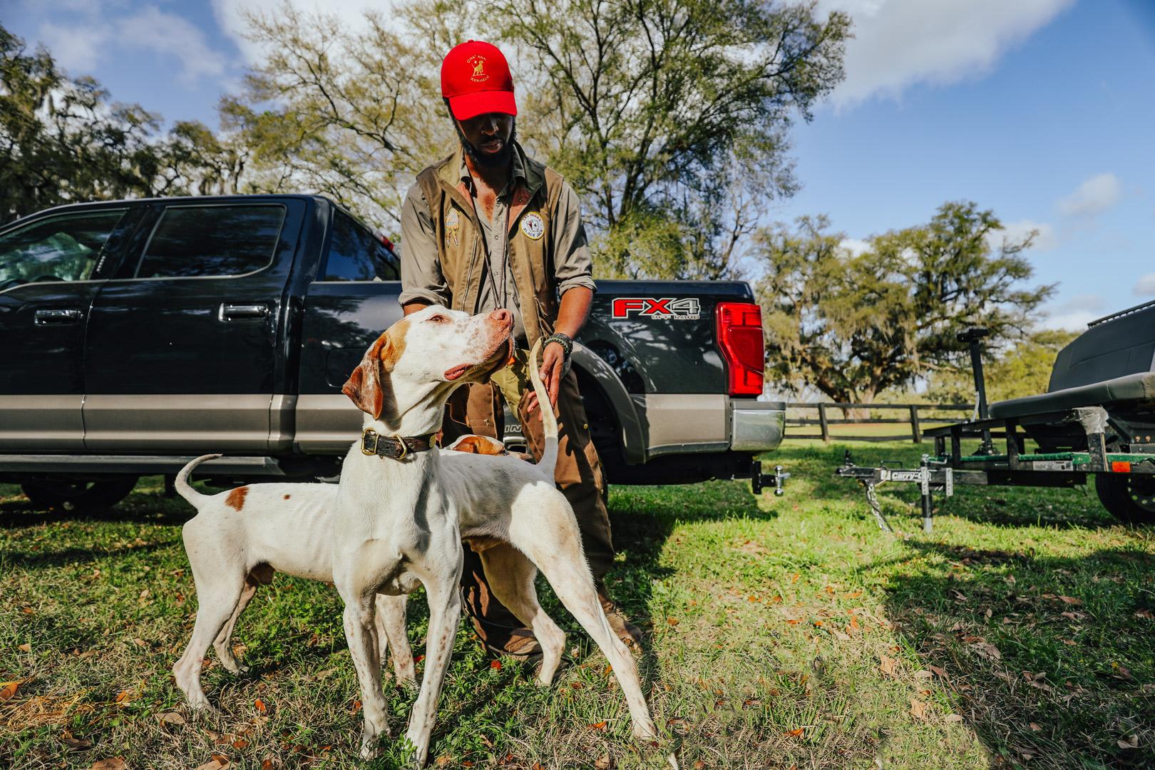
<path fill-rule="evenodd" d="M 88 208 L 0 234 L 0 449 L 83 448 L 84 328 L 102 262 L 137 216 Z"/>

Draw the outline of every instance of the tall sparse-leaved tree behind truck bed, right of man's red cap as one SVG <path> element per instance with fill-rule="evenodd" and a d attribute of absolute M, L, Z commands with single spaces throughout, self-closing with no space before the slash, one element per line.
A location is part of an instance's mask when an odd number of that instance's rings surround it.
<path fill-rule="evenodd" d="M 843 76 L 813 3 L 502 0 L 524 133 L 582 195 L 598 274 L 723 278 L 795 188 L 785 132 Z"/>

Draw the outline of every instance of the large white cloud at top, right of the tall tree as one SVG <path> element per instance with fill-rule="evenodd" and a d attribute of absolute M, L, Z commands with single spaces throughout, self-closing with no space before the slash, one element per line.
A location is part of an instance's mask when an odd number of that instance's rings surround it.
<path fill-rule="evenodd" d="M 847 80 L 835 106 L 874 95 L 897 97 L 916 83 L 945 85 L 985 75 L 1009 47 L 1046 25 L 1074 0 L 820 0 L 845 10 Z"/>

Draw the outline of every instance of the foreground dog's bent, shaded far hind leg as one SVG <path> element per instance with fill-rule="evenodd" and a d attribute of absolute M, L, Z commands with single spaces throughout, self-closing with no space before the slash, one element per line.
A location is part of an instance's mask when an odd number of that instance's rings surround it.
<path fill-rule="evenodd" d="M 524 554 L 505 544 L 482 551 L 482 565 L 493 596 L 509 607 L 517 620 L 534 630 L 537 643 L 542 645 L 542 666 L 537 672 L 537 682 L 549 686 L 561 663 L 566 634 L 537 603 L 537 589 L 534 588 L 537 568 Z"/>

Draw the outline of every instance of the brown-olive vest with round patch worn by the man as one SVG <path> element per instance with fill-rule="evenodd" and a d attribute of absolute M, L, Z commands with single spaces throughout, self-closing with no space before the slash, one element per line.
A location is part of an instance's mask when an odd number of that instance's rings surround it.
<path fill-rule="evenodd" d="M 558 319 L 552 223 L 562 180 L 552 169 L 526 157 L 516 142 L 513 149 L 521 154 L 526 180 L 517 181 L 509 204 L 509 268 L 526 337 L 532 346 L 539 337 L 553 334 Z M 449 287 L 452 308 L 472 313 L 482 287 L 485 233 L 477 220 L 469 189 L 461 181 L 461 149 L 417 174 L 417 184 L 430 207 L 438 260 Z"/>

